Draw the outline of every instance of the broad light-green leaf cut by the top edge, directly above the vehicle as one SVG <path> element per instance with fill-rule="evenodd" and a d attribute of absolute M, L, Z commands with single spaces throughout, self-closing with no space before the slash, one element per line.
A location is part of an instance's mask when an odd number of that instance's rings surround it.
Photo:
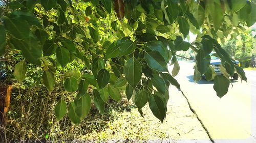
<path fill-rule="evenodd" d="M 222 24 L 224 12 L 221 7 L 221 3 L 218 1 L 207 1 L 206 3 L 206 11 L 212 17 L 212 21 L 214 22 L 214 28 L 217 31 Z"/>

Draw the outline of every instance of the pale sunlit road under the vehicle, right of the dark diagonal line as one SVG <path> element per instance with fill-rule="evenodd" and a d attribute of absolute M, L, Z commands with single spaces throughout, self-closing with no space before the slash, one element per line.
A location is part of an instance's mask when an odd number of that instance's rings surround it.
<path fill-rule="evenodd" d="M 179 64 L 175 78 L 215 142 L 256 142 L 256 71 L 245 71 L 247 82 L 232 81 L 233 87 L 230 84 L 228 93 L 219 98 L 214 82 L 194 82 L 194 62 Z"/>

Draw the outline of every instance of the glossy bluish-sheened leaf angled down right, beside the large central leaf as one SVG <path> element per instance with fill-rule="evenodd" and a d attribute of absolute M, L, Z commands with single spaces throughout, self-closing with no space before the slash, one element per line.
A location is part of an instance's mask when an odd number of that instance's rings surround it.
<path fill-rule="evenodd" d="M 148 67 L 153 70 L 168 71 L 167 63 L 165 62 L 163 56 L 157 51 L 146 52 L 145 60 Z"/>

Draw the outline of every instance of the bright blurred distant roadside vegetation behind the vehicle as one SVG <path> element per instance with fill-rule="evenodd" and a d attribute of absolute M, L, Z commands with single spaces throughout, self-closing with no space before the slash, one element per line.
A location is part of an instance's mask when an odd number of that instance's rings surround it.
<path fill-rule="evenodd" d="M 227 38 L 219 38 L 221 46 L 235 60 L 238 60 L 242 68 L 255 67 L 256 56 L 256 31 L 255 26 L 248 28 L 239 34 L 232 33 Z M 188 51 L 178 51 L 177 54 L 189 59 L 195 59 L 195 52 L 191 49 Z M 178 57 L 179 60 L 187 60 Z M 254 64 L 254 65 L 253 65 Z"/>

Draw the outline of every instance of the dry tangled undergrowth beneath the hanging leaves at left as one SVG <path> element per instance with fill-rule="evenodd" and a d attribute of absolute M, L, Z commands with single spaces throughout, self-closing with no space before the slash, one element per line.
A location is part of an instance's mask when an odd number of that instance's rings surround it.
<path fill-rule="evenodd" d="M 108 127 L 111 120 L 117 118 L 116 113 L 135 106 L 128 104 L 123 98 L 120 102 L 109 100 L 105 104 L 105 113 L 101 116 L 92 103 L 91 111 L 78 126 L 70 122 L 67 116 L 57 122 L 54 117 L 54 106 L 62 98 L 73 101 L 74 94 L 63 89 L 62 80 L 57 79 L 53 92 L 49 93 L 41 84 L 41 69 L 28 65 L 27 77 L 23 82 L 17 82 L 13 77 L 14 66 L 23 58 L 17 53 L 11 53 L 0 59 L 0 85 L 12 84 L 11 105 L 7 114 L 6 125 L 0 127 L 0 142 L 47 142 L 56 140 L 72 140 L 81 138 L 92 132 L 100 132 Z M 84 66 L 73 62 L 67 68 L 83 71 Z M 62 70 L 65 73 L 66 70 Z M 62 73 L 61 73 L 62 74 Z M 89 93 L 90 89 L 89 89 Z M 93 96 L 91 95 L 91 100 Z"/>

